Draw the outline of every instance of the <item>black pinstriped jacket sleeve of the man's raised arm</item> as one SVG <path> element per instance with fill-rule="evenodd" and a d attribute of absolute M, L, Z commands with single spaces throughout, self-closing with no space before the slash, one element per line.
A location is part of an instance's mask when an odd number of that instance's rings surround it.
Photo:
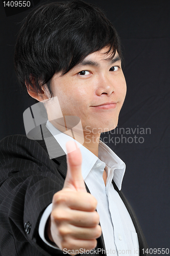
<path fill-rule="evenodd" d="M 0 142 L 0 173 L 0 225 L 42 255 L 63 254 L 44 245 L 38 235 L 44 209 L 63 187 L 57 165 L 37 141 L 14 135 Z"/>

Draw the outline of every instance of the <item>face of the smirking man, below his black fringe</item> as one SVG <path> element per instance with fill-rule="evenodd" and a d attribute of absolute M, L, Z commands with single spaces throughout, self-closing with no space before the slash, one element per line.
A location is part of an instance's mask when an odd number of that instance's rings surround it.
<path fill-rule="evenodd" d="M 107 48 L 89 54 L 64 76 L 55 74 L 51 80 L 63 116 L 78 116 L 83 130 L 109 131 L 116 127 L 118 115 L 126 95 L 126 81 L 116 52 L 109 60 Z M 48 119 L 55 110 L 46 104 Z M 58 127 L 57 119 L 52 122 Z"/>

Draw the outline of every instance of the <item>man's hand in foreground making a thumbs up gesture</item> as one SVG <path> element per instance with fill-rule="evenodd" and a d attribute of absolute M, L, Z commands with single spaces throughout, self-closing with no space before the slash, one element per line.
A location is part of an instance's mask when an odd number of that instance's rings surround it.
<path fill-rule="evenodd" d="M 72 255 L 80 249 L 96 247 L 101 236 L 96 199 L 86 191 L 81 173 L 82 156 L 72 141 L 67 142 L 67 175 L 63 189 L 53 196 L 50 228 L 51 241 Z"/>

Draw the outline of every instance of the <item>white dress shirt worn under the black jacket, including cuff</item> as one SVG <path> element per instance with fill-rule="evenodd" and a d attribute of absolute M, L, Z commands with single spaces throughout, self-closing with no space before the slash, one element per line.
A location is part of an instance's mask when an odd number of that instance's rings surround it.
<path fill-rule="evenodd" d="M 46 127 L 66 153 L 66 142 L 74 139 L 58 131 L 49 121 L 47 121 Z M 78 142 L 77 144 L 82 153 L 83 179 L 90 193 L 98 201 L 96 210 L 100 216 L 107 255 L 138 256 L 139 244 L 135 227 L 125 204 L 111 183 L 113 179 L 118 189 L 121 189 L 125 163 L 102 141 L 99 143 L 99 158 L 83 145 Z M 106 186 L 103 180 L 104 169 L 107 173 Z M 39 235 L 46 244 L 54 247 L 44 238 L 45 224 L 51 211 L 52 204 L 43 212 L 39 224 Z"/>

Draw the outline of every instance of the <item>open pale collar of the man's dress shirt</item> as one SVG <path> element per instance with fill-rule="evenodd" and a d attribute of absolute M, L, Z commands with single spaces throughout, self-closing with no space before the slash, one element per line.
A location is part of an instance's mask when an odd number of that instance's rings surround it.
<path fill-rule="evenodd" d="M 52 133 L 55 139 L 58 141 L 63 151 L 66 153 L 66 142 L 67 141 L 75 141 L 74 138 L 61 133 L 50 121 L 46 123 L 47 129 Z M 122 181 L 125 174 L 125 163 L 108 147 L 104 142 L 100 141 L 99 143 L 99 158 L 96 157 L 92 152 L 90 152 L 85 146 L 76 141 L 78 146 L 80 147 L 80 151 L 82 153 L 82 176 L 85 180 L 90 170 L 93 167 L 98 168 L 98 164 L 101 163 L 101 167 L 105 168 L 105 164 L 107 169 L 114 170 L 113 180 L 120 190 L 122 187 Z M 105 163 L 105 164 L 104 164 Z M 95 165 L 95 166 L 94 166 Z M 103 168 L 103 169 L 104 169 Z"/>

